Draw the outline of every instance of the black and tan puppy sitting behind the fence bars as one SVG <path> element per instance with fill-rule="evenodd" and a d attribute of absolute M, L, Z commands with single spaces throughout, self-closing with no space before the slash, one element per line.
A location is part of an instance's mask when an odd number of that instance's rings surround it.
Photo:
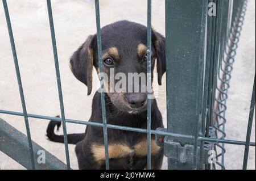
<path fill-rule="evenodd" d="M 116 73 L 147 73 L 147 28 L 126 20 L 109 24 L 101 29 L 104 72 L 110 68 Z M 152 30 L 152 69 L 156 62 L 158 83 L 166 71 L 165 38 Z M 92 91 L 93 66 L 98 70 L 97 36 L 89 36 L 71 57 L 71 70 L 79 81 Z M 108 89 L 109 81 L 105 82 Z M 146 92 L 106 92 L 106 119 L 108 124 L 147 128 Z M 162 115 L 155 99 L 151 99 L 151 129 L 163 127 Z M 102 123 L 101 96 L 96 92 L 89 121 Z M 56 135 L 54 128 L 60 122 L 51 121 L 47 128 L 49 140 L 64 142 L 63 135 Z M 87 126 L 85 133 L 68 134 L 68 143 L 76 144 L 79 169 L 105 169 L 103 131 L 100 127 Z M 108 129 L 110 169 L 144 169 L 147 163 L 145 133 Z M 151 142 L 152 169 L 160 169 L 163 150 Z"/>

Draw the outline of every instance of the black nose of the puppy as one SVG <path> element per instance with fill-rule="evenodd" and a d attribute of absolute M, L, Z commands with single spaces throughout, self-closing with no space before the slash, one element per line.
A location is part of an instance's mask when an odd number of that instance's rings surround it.
<path fill-rule="evenodd" d="M 146 102 L 146 94 L 130 94 L 126 97 L 127 103 L 132 108 L 139 108 L 144 106 Z"/>

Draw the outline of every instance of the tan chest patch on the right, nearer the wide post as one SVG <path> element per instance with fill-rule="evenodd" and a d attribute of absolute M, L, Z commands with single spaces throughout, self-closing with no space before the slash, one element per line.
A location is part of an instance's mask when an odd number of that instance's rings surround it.
<path fill-rule="evenodd" d="M 147 155 L 147 140 L 143 140 L 134 146 L 135 154 L 141 157 Z M 151 154 L 156 154 L 160 147 L 156 145 L 155 140 L 151 140 Z"/>

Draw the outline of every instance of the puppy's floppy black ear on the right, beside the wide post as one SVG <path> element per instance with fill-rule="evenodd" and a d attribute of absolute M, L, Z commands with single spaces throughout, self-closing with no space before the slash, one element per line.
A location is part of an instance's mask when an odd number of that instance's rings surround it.
<path fill-rule="evenodd" d="M 156 31 L 152 35 L 155 36 L 152 40 L 156 49 L 158 84 L 162 85 L 162 76 L 166 72 L 166 38 Z"/>

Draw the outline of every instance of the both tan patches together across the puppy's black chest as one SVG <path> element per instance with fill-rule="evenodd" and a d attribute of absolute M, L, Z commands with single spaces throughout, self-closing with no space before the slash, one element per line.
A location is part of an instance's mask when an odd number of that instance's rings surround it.
<path fill-rule="evenodd" d="M 109 159 L 112 158 L 123 158 L 132 155 L 144 157 L 147 155 L 147 140 L 141 141 L 136 144 L 133 148 L 130 148 L 126 144 L 110 144 L 109 145 Z M 105 160 L 105 146 L 104 145 L 92 145 L 92 154 L 96 162 Z M 151 154 L 158 153 L 160 147 L 155 144 L 155 140 L 151 140 Z"/>

